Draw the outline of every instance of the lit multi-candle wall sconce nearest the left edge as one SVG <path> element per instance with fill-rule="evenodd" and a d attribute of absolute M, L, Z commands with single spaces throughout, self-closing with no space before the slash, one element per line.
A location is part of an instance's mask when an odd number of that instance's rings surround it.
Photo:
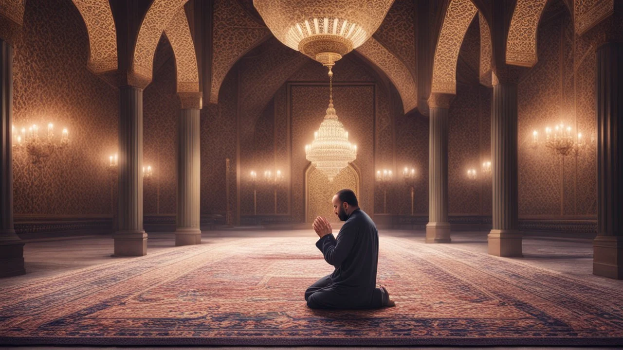
<path fill-rule="evenodd" d="M 26 146 L 26 151 L 31 156 L 32 164 L 39 164 L 44 159 L 49 158 L 58 149 L 64 149 L 69 144 L 69 131 L 67 128 L 62 130 L 58 140 L 54 137 L 54 124 L 47 125 L 47 135 L 45 138 L 39 137 L 39 126 L 36 124 L 29 126 L 28 131 L 22 127 L 21 133 L 17 133 L 17 128 L 11 128 L 12 145 L 16 151 L 20 151 Z"/>

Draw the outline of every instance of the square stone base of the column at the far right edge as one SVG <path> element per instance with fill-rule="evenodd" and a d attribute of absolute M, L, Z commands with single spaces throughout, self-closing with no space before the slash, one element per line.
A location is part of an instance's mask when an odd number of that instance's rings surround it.
<path fill-rule="evenodd" d="M 623 237 L 598 235 L 592 252 L 593 275 L 623 280 Z"/>

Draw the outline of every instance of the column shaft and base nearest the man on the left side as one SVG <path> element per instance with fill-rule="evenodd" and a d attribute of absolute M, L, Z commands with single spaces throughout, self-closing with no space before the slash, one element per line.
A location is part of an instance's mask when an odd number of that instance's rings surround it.
<path fill-rule="evenodd" d="M 178 219 L 175 245 L 201 244 L 199 110 L 182 109 L 178 120 Z"/>

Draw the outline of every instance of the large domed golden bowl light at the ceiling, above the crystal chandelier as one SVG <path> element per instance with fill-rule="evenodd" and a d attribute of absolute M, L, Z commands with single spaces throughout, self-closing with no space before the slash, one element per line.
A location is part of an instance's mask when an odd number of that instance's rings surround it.
<path fill-rule="evenodd" d="M 254 0 L 284 45 L 333 65 L 378 29 L 394 0 Z"/>

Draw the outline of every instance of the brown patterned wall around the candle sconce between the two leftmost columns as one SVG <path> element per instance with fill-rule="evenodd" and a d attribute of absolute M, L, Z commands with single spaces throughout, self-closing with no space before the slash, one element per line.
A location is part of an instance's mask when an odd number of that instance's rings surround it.
<path fill-rule="evenodd" d="M 15 214 L 110 215 L 118 93 L 87 70 L 87 29 L 72 1 L 27 1 L 14 48 L 14 125 L 37 124 L 45 135 L 51 121 L 71 140 L 40 166 L 14 152 Z"/>

